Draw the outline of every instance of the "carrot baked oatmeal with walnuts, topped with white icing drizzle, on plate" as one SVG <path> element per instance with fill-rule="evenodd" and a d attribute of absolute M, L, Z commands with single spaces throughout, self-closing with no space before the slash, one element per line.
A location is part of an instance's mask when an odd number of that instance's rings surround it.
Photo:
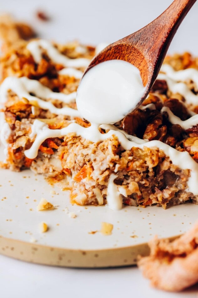
<path fill-rule="evenodd" d="M 31 29 L 7 27 L 16 34 L 0 60 L 2 167 L 44 174 L 79 205 L 197 203 L 197 58 L 167 56 L 138 109 L 96 126 L 81 118 L 75 98 L 97 48 L 25 40 Z"/>

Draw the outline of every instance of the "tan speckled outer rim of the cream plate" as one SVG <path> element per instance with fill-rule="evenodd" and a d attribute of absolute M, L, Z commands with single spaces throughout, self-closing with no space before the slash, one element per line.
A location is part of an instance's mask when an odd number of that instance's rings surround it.
<path fill-rule="evenodd" d="M 169 238 L 174 240 L 176 237 Z M 44 246 L 0 237 L 0 253 L 21 261 L 72 268 L 108 268 L 136 265 L 138 255 L 149 255 L 147 243 L 109 249 L 80 250 Z"/>

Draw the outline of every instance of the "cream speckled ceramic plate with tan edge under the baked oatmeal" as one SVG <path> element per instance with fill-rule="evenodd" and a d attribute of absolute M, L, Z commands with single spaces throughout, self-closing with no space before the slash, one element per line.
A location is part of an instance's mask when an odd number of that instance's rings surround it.
<path fill-rule="evenodd" d="M 42 197 L 56 205 L 55 210 L 37 211 Z M 65 209 L 74 212 L 76 218 Z M 137 254 L 148 253 L 146 242 L 151 237 L 185 232 L 197 219 L 197 211 L 198 206 L 192 204 L 167 210 L 125 206 L 120 211 L 107 206 L 71 205 L 68 193 L 52 188 L 42 176 L 29 170 L 14 173 L 1 169 L 0 253 L 58 266 L 131 265 L 136 263 Z M 39 231 L 42 221 L 49 227 L 45 233 Z M 99 232 L 101 222 L 113 224 L 111 235 Z"/>

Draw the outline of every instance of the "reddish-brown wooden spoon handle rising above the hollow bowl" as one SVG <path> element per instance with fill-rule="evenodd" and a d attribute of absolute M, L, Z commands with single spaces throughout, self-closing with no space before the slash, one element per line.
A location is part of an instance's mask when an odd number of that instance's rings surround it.
<path fill-rule="evenodd" d="M 151 85 L 155 81 L 171 40 L 195 2 L 196 0 L 173 1 L 157 19 L 123 39 L 130 43 L 131 37 L 131 44 L 136 44 L 148 64 L 155 69 L 156 75 L 154 74 Z M 150 71 L 152 72 L 153 69 Z"/>

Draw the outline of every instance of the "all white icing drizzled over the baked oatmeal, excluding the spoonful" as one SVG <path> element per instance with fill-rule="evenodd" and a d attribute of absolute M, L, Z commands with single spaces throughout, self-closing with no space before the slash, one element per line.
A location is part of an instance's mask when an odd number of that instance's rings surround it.
<path fill-rule="evenodd" d="M 42 59 L 43 50 L 47 51 L 49 58 L 57 64 L 63 65 L 65 68 L 59 71 L 60 75 L 74 76 L 80 79 L 83 72 L 74 69 L 74 67 L 86 67 L 89 64 L 89 59 L 79 58 L 79 59 L 69 59 L 68 57 L 59 53 L 59 51 L 46 40 L 34 40 L 29 42 L 27 45 L 28 50 L 31 52 L 36 63 L 39 63 Z M 168 88 L 172 93 L 180 93 L 184 96 L 185 100 L 189 104 L 198 104 L 198 96 L 195 95 L 184 82 L 192 80 L 195 82 L 198 88 L 198 71 L 195 69 L 186 69 L 182 71 L 175 72 L 169 65 L 163 65 L 161 71 L 165 73 L 160 73 L 158 79 L 165 80 L 167 82 Z M 76 93 L 70 93 L 69 95 L 63 93 L 52 92 L 49 88 L 43 86 L 40 82 L 36 80 L 29 80 L 27 77 L 7 77 L 0 87 L 0 99 L 1 102 L 6 102 L 8 98 L 8 90 L 12 90 L 18 95 L 19 98 L 27 98 L 30 102 L 36 102 L 42 109 L 47 109 L 54 114 L 63 114 L 70 116 L 79 116 L 79 112 L 75 109 L 68 107 L 56 108 L 52 103 L 45 101 L 45 99 L 58 99 L 64 103 L 69 103 L 76 98 Z M 31 95 L 33 93 L 35 95 Z M 154 109 L 153 104 L 147 106 L 141 106 L 141 109 Z M 187 129 L 193 125 L 198 124 L 198 115 L 192 116 L 190 119 L 182 121 L 180 118 L 175 116 L 169 108 L 163 107 L 161 112 L 167 112 L 169 120 L 173 124 L 179 124 L 183 129 Z M 99 127 L 104 130 L 109 130 L 105 134 L 101 134 Z M 5 144 L 5 137 L 8 135 L 8 127 L 4 128 L 5 133 L 1 133 L 1 139 Z M 2 131 L 4 131 L 2 130 Z M 26 157 L 34 159 L 38 154 L 39 146 L 47 138 L 63 137 L 68 133 L 75 133 L 76 136 L 81 136 L 82 138 L 89 139 L 92 142 L 104 141 L 107 138 L 115 136 L 118 138 L 121 146 L 125 150 L 130 150 L 132 147 L 139 147 L 143 149 L 144 147 L 158 147 L 162 150 L 165 155 L 170 157 L 170 160 L 174 162 L 181 169 L 190 169 L 190 177 L 188 180 L 187 191 L 198 195 L 198 164 L 190 157 L 188 152 L 179 152 L 169 145 L 164 144 L 161 141 L 146 141 L 139 139 L 135 136 L 130 136 L 123 130 L 119 130 L 114 125 L 95 125 L 91 124 L 90 127 L 84 128 L 77 123 L 71 123 L 63 129 L 52 130 L 48 128 L 48 125 L 39 121 L 34 120 L 32 125 L 32 133 L 30 138 L 34 138 L 33 145 L 30 149 L 25 151 Z M 114 179 L 117 176 L 111 174 L 109 178 L 109 186 L 107 190 L 107 201 L 108 205 L 112 209 L 120 209 L 122 201 L 120 198 L 119 190 L 114 184 Z M 115 199 L 113 200 L 113 196 Z"/>

